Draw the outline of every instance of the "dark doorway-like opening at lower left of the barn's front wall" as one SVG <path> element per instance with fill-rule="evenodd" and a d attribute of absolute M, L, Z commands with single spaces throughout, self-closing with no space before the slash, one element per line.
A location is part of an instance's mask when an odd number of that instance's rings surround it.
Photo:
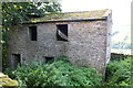
<path fill-rule="evenodd" d="M 21 55 L 12 54 L 12 67 L 17 67 L 18 64 L 21 64 Z"/>

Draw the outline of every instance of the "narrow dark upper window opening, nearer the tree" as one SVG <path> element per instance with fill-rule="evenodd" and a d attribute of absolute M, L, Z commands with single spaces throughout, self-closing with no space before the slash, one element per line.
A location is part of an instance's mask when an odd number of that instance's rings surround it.
<path fill-rule="evenodd" d="M 37 41 L 37 26 L 29 26 L 29 34 L 31 41 Z"/>

